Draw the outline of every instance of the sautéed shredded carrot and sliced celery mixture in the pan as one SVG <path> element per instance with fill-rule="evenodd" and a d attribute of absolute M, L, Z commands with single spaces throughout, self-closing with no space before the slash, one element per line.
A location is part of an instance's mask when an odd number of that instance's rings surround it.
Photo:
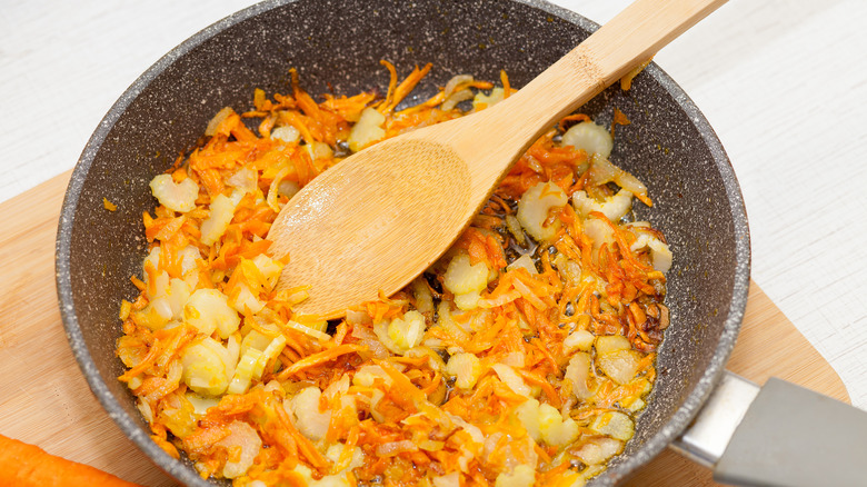
<path fill-rule="evenodd" d="M 651 202 L 609 161 L 614 130 L 566 117 L 438 262 L 345 319 L 296 314 L 306 287 L 275 290 L 266 236 L 300 188 L 514 92 L 505 73 L 458 76 L 398 109 L 430 64 L 400 82 L 382 64 L 385 97 L 321 102 L 292 71 L 291 95 L 221 110 L 153 178 L 120 380 L 157 444 L 236 486 L 581 486 L 632 436 L 668 326 L 671 252 L 631 221 Z"/>

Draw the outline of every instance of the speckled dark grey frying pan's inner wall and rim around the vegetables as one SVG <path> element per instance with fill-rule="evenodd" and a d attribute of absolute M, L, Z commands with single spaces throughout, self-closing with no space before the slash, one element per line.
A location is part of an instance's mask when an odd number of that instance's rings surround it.
<path fill-rule="evenodd" d="M 147 252 L 142 211 L 150 179 L 200 137 L 222 107 L 242 111 L 255 88 L 288 92 L 289 68 L 315 93 L 385 92 L 380 59 L 398 69 L 432 62 L 405 103 L 426 99 L 455 74 L 520 87 L 597 26 L 536 0 L 270 0 L 197 33 L 146 71 L 100 122 L 73 171 L 57 242 L 57 284 L 73 354 L 99 401 L 123 433 L 180 483 L 207 486 L 187 459 L 149 439 L 133 396 L 116 378 L 121 299 L 138 290 Z M 661 229 L 675 251 L 667 305 L 672 325 L 659 348 L 658 378 L 626 450 L 595 478 L 611 486 L 678 438 L 724 377 L 747 302 L 749 235 L 731 166 L 712 129 L 656 64 L 629 91 L 609 88 L 581 111 L 617 128 L 611 159 L 644 181 L 652 209 L 638 219 Z M 117 211 L 103 209 L 103 198 Z M 682 443 L 682 441 L 681 441 Z"/>

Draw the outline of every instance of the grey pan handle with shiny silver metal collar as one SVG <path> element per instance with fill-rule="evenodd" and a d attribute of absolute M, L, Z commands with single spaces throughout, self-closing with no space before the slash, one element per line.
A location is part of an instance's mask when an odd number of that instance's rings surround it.
<path fill-rule="evenodd" d="M 672 449 L 738 486 L 864 485 L 867 413 L 794 384 L 726 372 Z"/>

